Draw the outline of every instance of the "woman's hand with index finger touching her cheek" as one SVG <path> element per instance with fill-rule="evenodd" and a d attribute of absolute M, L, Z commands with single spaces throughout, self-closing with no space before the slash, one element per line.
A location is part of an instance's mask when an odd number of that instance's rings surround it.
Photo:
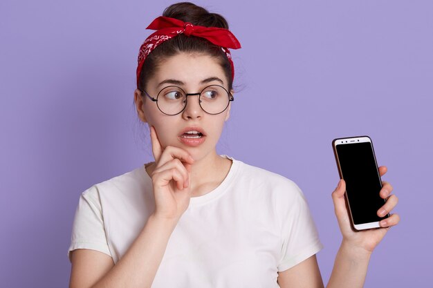
<path fill-rule="evenodd" d="M 150 127 L 150 137 L 155 157 L 155 169 L 151 173 L 156 206 L 154 215 L 165 220 L 178 220 L 190 204 L 190 171 L 194 160 L 181 148 L 163 148 L 153 126 Z"/>

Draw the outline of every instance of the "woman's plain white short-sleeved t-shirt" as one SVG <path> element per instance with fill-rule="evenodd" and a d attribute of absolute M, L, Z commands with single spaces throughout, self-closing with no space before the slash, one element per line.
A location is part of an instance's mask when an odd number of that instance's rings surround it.
<path fill-rule="evenodd" d="M 277 272 L 322 249 L 308 205 L 291 180 L 232 160 L 223 182 L 191 198 L 169 238 L 153 288 L 279 287 Z M 71 247 L 125 254 L 154 211 L 145 167 L 84 191 Z"/>

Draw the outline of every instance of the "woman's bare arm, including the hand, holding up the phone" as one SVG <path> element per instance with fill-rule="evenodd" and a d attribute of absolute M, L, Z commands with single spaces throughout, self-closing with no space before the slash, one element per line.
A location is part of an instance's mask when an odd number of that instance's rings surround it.
<path fill-rule="evenodd" d="M 379 167 L 380 176 L 385 175 L 386 172 L 387 168 L 385 166 Z M 400 217 L 397 214 L 393 214 L 380 222 L 380 227 L 382 228 L 353 231 L 344 202 L 344 191 L 346 191 L 346 184 L 344 180 L 340 180 L 337 188 L 332 193 L 332 198 L 343 240 L 335 257 L 333 271 L 326 286 L 327 288 L 363 287 L 371 253 L 383 239 L 389 228 L 400 221 Z M 392 186 L 387 182 L 383 182 L 380 197 L 387 199 L 387 201 L 378 210 L 380 217 L 391 212 L 396 207 L 398 198 L 396 195 L 391 195 L 391 192 Z M 282 288 L 322 288 L 322 278 L 315 256 L 311 256 L 311 258 L 304 260 L 291 269 L 280 272 L 278 283 Z"/>

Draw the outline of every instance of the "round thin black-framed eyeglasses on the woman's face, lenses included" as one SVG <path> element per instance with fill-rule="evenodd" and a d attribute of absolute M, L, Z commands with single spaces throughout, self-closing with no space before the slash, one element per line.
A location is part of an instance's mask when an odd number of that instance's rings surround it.
<path fill-rule="evenodd" d="M 140 90 L 153 102 L 165 115 L 178 115 L 187 106 L 187 97 L 199 95 L 200 107 L 205 113 L 216 115 L 227 109 L 233 95 L 225 90 L 223 86 L 210 85 L 201 90 L 200 93 L 186 93 L 181 87 L 167 86 L 159 91 L 156 98 L 151 97 L 145 90 Z"/>

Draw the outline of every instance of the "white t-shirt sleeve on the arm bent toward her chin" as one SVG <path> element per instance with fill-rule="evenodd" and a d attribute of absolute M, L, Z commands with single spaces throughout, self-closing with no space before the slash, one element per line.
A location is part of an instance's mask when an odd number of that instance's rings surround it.
<path fill-rule="evenodd" d="M 96 250 L 111 257 L 96 186 L 87 189 L 80 196 L 73 222 L 71 246 L 68 249 L 69 260 L 71 260 L 71 251 L 75 249 Z"/>

